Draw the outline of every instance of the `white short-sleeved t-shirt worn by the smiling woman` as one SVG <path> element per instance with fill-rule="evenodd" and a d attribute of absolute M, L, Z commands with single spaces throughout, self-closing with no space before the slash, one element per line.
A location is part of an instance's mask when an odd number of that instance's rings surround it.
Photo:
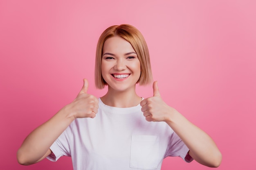
<path fill-rule="evenodd" d="M 165 157 L 185 160 L 189 151 L 168 124 L 147 122 L 140 105 L 110 107 L 100 98 L 96 117 L 74 120 L 50 149 L 47 159 L 71 156 L 74 170 L 160 170 Z"/>

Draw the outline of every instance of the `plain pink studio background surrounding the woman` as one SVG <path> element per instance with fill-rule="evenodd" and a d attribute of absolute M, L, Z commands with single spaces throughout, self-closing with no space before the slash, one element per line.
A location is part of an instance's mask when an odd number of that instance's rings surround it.
<path fill-rule="evenodd" d="M 255 169 L 255 7 L 253 0 L 1 0 L 0 169 L 72 169 L 69 157 L 21 166 L 16 152 L 76 97 L 83 78 L 90 94 L 106 92 L 94 87 L 96 44 L 123 23 L 144 35 L 162 98 L 215 140 L 218 169 Z M 153 95 L 151 86 L 137 92 Z M 168 157 L 167 169 L 210 168 Z"/>

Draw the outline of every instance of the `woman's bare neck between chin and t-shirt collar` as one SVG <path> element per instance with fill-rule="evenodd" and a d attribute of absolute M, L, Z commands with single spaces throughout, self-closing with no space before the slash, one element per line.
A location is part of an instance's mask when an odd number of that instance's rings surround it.
<path fill-rule="evenodd" d="M 124 108 L 137 106 L 141 102 L 141 97 L 136 94 L 135 89 L 119 92 L 109 88 L 101 97 L 101 101 L 108 106 Z"/>

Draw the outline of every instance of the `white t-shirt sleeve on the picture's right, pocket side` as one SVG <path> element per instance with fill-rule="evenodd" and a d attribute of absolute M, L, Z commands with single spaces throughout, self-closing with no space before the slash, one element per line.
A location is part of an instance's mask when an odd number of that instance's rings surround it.
<path fill-rule="evenodd" d="M 168 148 L 165 157 L 181 157 L 186 162 L 193 161 L 193 158 L 188 154 L 189 148 L 184 144 L 180 137 L 173 132 L 168 143 Z"/>

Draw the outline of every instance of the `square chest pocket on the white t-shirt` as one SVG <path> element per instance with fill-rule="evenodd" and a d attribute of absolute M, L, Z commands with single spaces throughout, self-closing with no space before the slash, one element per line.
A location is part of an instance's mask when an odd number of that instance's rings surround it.
<path fill-rule="evenodd" d="M 159 136 L 132 135 L 130 168 L 155 169 L 159 161 Z"/>

